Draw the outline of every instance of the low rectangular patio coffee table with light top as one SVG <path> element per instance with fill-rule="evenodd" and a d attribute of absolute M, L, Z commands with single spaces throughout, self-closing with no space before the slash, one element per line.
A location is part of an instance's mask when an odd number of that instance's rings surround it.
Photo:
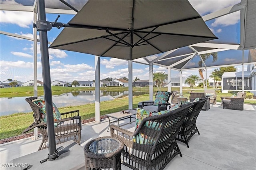
<path fill-rule="evenodd" d="M 124 125 L 128 125 L 128 124 L 131 124 L 132 122 L 135 122 L 136 120 L 132 121 L 132 118 L 136 119 L 136 117 L 132 117 L 134 115 L 136 115 L 136 110 L 133 110 L 133 109 L 130 109 L 130 110 L 125 110 L 125 112 L 130 112 L 130 113 L 121 113 L 122 111 L 120 112 L 116 112 L 116 113 L 110 113 L 110 114 L 106 114 L 106 116 L 108 117 L 108 121 L 109 121 L 109 125 L 108 125 L 108 130 L 110 128 L 110 124 L 111 123 L 114 123 L 114 122 L 117 122 L 117 126 L 118 127 L 121 127 L 121 126 L 124 126 Z M 110 122 L 110 117 L 116 119 L 112 122 Z M 130 118 L 130 122 L 129 123 L 122 123 L 122 125 L 119 124 L 119 121 L 122 121 L 124 119 L 128 119 Z M 107 130 L 107 132 L 108 132 Z"/>

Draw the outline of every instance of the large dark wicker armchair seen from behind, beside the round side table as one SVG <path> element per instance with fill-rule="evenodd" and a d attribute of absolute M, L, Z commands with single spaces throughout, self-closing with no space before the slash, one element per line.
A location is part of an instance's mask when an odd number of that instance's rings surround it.
<path fill-rule="evenodd" d="M 176 136 L 192 105 L 188 103 L 165 114 L 146 117 L 135 132 L 110 125 L 111 136 L 124 142 L 122 164 L 132 169 L 162 170 L 177 154 L 182 157 Z M 139 134 L 142 139 L 136 137 Z"/>

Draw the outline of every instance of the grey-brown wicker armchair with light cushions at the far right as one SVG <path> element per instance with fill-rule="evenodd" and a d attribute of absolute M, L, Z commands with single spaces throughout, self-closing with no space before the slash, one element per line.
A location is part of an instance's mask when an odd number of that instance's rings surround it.
<path fill-rule="evenodd" d="M 238 92 L 242 93 L 242 92 Z M 238 94 L 237 93 L 237 94 Z M 242 94 L 242 97 L 238 97 L 239 94 L 237 95 L 236 98 L 230 98 L 230 99 L 222 99 L 222 107 L 223 109 L 234 109 L 234 110 L 244 110 L 244 99 L 246 96 L 246 92 Z"/>

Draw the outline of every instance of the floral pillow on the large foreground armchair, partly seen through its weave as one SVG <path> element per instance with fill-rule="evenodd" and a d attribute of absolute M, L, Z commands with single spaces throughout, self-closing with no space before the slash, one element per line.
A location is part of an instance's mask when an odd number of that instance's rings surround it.
<path fill-rule="evenodd" d="M 150 111 L 146 111 L 144 109 L 137 108 L 136 126 L 135 126 L 134 131 L 136 131 L 136 129 L 139 127 L 140 123 L 142 122 L 142 120 L 145 117 L 151 117 L 151 116 L 154 116 L 154 115 L 161 115 L 161 114 L 165 114 L 165 113 L 168 113 L 168 112 L 170 112 L 170 111 L 160 111 L 160 112 L 152 113 Z M 147 121 L 146 122 L 146 127 L 157 128 L 155 130 L 160 130 L 161 124 L 153 122 L 153 121 Z M 145 135 L 143 133 L 140 133 L 140 134 L 134 136 L 133 137 L 133 142 L 136 142 L 136 143 L 139 143 L 139 144 L 154 144 L 154 140 L 155 140 L 154 138 L 150 138 L 148 136 L 145 136 L 145 138 L 144 138 L 144 136 Z M 150 138 L 149 141 L 148 141 L 148 138 Z"/>

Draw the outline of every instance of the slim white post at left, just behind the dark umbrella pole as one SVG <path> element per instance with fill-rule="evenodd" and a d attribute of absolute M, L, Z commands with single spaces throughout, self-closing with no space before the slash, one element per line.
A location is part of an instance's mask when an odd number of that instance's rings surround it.
<path fill-rule="evenodd" d="M 34 23 L 36 23 L 37 13 L 33 12 Z M 37 31 L 33 29 L 33 53 L 34 53 L 34 96 L 37 97 Z M 38 139 L 38 128 L 34 128 L 34 139 Z"/>

